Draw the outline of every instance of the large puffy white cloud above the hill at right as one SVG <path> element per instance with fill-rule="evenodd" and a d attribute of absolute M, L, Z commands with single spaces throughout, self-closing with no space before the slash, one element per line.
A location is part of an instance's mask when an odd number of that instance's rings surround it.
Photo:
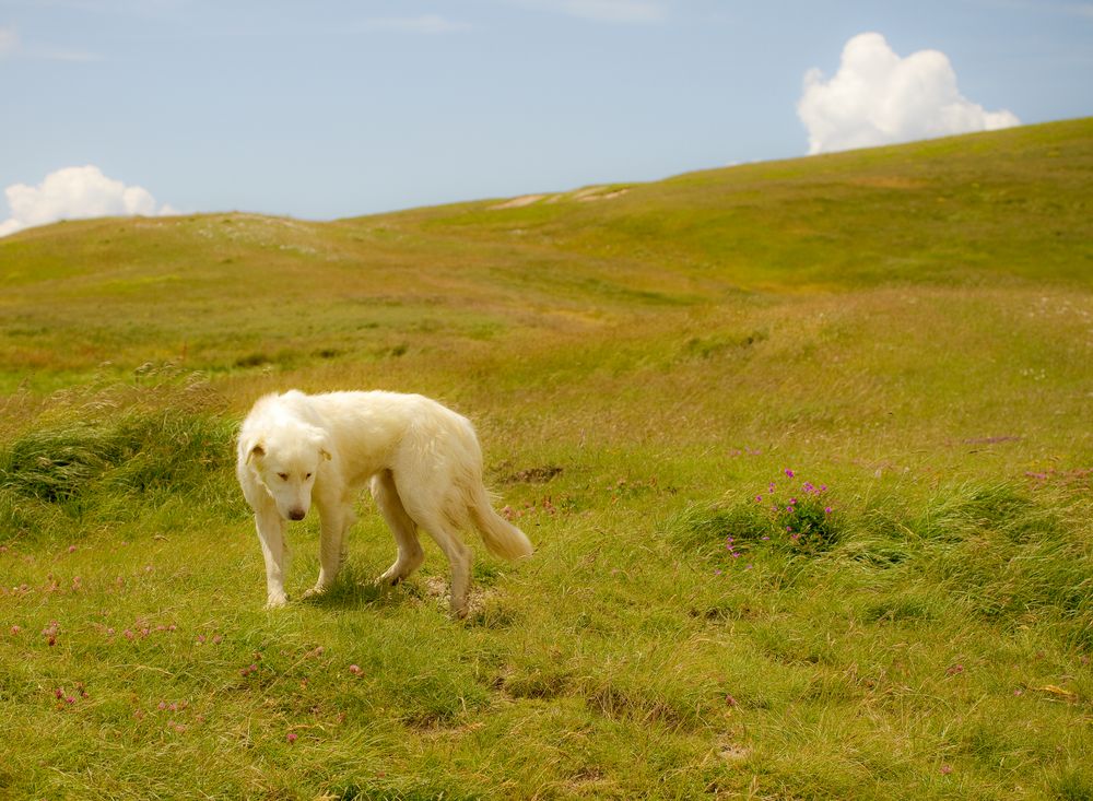
<path fill-rule="evenodd" d="M 797 115 L 809 154 L 1021 125 L 1010 111 L 987 111 L 964 97 L 943 52 L 901 58 L 877 33 L 846 43 L 832 79 L 819 69 L 806 73 Z"/>

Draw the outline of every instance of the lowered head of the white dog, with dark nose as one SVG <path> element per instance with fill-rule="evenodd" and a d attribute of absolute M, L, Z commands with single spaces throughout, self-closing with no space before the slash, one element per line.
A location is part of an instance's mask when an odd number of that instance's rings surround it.
<path fill-rule="evenodd" d="M 330 450 L 326 434 L 306 424 L 282 424 L 243 444 L 246 463 L 285 520 L 303 520 L 312 506 L 312 488 Z"/>

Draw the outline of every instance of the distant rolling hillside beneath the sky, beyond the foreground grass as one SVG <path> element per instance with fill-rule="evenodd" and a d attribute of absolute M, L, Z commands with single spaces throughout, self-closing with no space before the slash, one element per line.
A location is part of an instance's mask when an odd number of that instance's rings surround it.
<path fill-rule="evenodd" d="M 371 358 L 423 325 L 474 340 L 787 293 L 1085 291 L 1091 176 L 1086 119 L 515 208 L 63 223 L 0 239 L 0 376 L 46 388 L 106 361 Z"/>

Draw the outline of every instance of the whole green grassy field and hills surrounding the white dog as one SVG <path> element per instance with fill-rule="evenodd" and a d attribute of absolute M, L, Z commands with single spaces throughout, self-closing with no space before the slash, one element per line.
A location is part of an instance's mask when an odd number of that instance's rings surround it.
<path fill-rule="evenodd" d="M 1093 798 L 1091 187 L 1076 120 L 0 239 L 0 798 Z M 536 555 L 453 622 L 362 500 L 263 610 L 290 387 L 470 416 Z"/>

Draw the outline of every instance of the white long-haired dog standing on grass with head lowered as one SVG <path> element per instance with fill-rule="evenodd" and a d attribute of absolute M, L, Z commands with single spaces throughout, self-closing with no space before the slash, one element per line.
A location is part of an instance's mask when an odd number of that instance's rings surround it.
<path fill-rule="evenodd" d="M 344 558 L 342 538 L 366 483 L 398 543 L 398 558 L 377 580 L 398 584 L 421 566 L 420 527 L 451 564 L 456 616 L 467 614 L 472 558 L 459 530 L 473 526 L 490 551 L 509 559 L 532 552 L 524 532 L 490 505 L 470 421 L 420 394 L 266 396 L 243 422 L 236 474 L 255 511 L 268 606 L 287 601 L 286 521 L 303 520 L 313 500 L 319 509 L 319 579 L 306 596 L 321 593 Z"/>

